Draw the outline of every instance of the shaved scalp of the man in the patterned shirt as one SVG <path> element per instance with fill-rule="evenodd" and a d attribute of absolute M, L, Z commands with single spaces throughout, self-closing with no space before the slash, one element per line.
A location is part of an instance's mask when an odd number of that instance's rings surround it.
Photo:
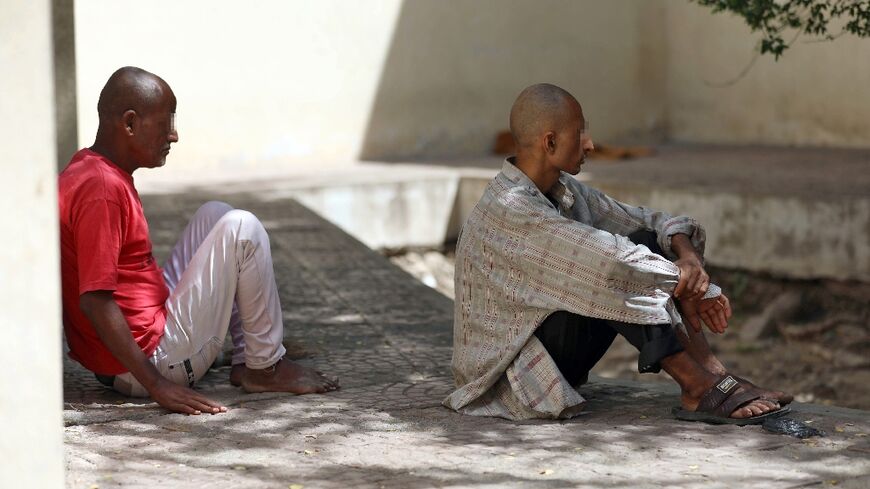
<path fill-rule="evenodd" d="M 558 131 L 580 107 L 577 99 L 556 85 L 539 83 L 523 90 L 511 107 L 511 134 L 518 147 L 534 145 L 541 135 Z"/>

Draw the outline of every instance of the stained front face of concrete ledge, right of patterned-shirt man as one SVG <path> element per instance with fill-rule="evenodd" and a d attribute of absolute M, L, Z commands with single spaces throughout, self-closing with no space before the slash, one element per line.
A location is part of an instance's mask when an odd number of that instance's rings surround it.
<path fill-rule="evenodd" d="M 870 198 L 590 185 L 624 202 L 694 217 L 707 230 L 707 259 L 715 265 L 789 278 L 870 282 Z"/>

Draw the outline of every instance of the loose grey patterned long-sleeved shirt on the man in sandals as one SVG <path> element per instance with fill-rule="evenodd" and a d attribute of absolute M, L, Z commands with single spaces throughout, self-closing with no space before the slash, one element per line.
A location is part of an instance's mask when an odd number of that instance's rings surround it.
<path fill-rule="evenodd" d="M 568 418 L 583 397 L 565 380 L 535 329 L 555 311 L 683 327 L 671 293 L 679 269 L 671 236 L 704 230 L 608 197 L 563 173 L 550 196 L 511 162 L 489 184 L 460 234 L 452 369 L 444 405 L 508 419 Z M 625 236 L 658 233 L 667 257 Z M 716 295 L 711 284 L 707 297 Z"/>

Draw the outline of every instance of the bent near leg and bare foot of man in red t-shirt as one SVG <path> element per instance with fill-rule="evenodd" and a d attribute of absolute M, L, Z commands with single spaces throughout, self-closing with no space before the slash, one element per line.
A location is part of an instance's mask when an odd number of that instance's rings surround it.
<path fill-rule="evenodd" d="M 167 329 L 161 342 L 165 348 L 159 365 L 176 381 L 185 381 L 180 372 L 188 381 L 201 377 L 220 350 L 236 303 L 251 377 L 247 390 L 307 393 L 335 388 L 336 383 L 319 372 L 281 360 L 285 353 L 281 305 L 262 224 L 246 211 L 228 210 L 218 203 L 207 206 L 214 212 L 205 214 L 222 214 L 186 260 L 167 301 Z M 194 219 L 193 234 L 207 229 L 208 220 Z M 169 274 L 181 268 L 185 253 L 167 265 Z"/>

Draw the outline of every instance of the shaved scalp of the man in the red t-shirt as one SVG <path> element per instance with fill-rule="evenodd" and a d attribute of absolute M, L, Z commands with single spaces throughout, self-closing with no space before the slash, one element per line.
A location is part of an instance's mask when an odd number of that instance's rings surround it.
<path fill-rule="evenodd" d="M 169 85 L 154 73 L 125 66 L 112 73 L 100 92 L 100 123 L 117 120 L 128 110 L 146 115 L 159 105 L 167 91 L 171 92 Z"/>

